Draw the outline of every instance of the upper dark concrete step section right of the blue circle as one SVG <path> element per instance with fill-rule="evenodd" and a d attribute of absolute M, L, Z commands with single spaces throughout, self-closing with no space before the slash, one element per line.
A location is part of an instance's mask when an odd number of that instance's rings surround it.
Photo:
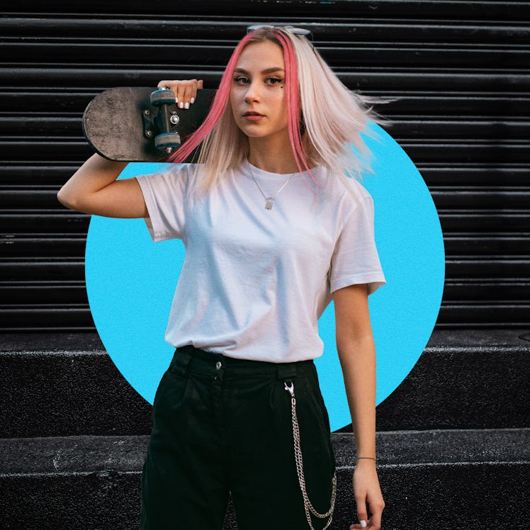
<path fill-rule="evenodd" d="M 378 406 L 378 431 L 530 427 L 529 354 L 528 330 L 435 331 Z"/>

